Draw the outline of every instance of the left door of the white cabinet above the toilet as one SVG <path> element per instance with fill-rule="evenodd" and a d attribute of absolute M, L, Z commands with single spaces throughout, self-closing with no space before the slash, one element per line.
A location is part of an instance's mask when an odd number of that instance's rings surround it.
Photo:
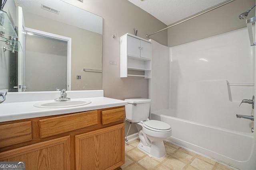
<path fill-rule="evenodd" d="M 127 54 L 140 57 L 140 39 L 127 36 Z"/>

